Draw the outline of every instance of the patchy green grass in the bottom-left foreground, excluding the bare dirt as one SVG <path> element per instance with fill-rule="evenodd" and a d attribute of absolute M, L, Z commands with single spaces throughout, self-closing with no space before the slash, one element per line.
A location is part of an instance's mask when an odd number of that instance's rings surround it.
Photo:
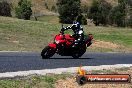
<path fill-rule="evenodd" d="M 70 74 L 50 74 L 45 76 L 28 76 L 14 79 L 0 80 L 0 88 L 54 88 L 57 80 L 70 77 Z"/>

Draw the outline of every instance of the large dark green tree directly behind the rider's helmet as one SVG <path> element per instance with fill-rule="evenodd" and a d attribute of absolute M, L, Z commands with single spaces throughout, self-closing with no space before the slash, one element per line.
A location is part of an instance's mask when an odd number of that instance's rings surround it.
<path fill-rule="evenodd" d="M 81 13 L 80 0 L 58 0 L 58 12 L 61 23 L 73 23 Z"/>

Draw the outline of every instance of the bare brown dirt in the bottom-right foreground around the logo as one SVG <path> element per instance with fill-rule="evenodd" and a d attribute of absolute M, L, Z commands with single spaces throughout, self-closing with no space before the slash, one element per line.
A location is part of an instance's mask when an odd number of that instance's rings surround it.
<path fill-rule="evenodd" d="M 132 75 L 132 67 L 126 70 L 111 70 L 117 74 L 130 74 Z M 55 88 L 132 88 L 132 83 L 86 83 L 78 85 L 75 78 L 67 78 L 66 80 L 58 80 Z"/>

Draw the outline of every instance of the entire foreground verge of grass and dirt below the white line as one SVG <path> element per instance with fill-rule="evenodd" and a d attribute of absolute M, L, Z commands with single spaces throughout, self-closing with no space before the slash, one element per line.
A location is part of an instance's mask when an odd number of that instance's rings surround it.
<path fill-rule="evenodd" d="M 88 71 L 88 74 L 130 74 L 132 67 L 118 69 L 103 69 Z M 6 78 L 0 80 L 0 88 L 131 88 L 132 83 L 87 83 L 78 85 L 75 81 L 75 74 L 47 74 L 30 75 L 26 77 Z"/>

